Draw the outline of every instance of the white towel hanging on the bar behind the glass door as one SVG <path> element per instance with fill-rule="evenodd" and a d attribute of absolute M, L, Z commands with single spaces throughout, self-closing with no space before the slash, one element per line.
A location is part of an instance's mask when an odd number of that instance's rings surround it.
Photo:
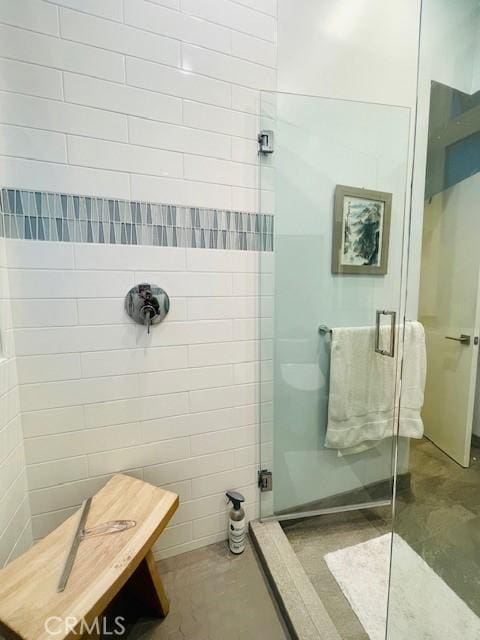
<path fill-rule="evenodd" d="M 386 343 L 389 330 L 381 329 Z M 373 327 L 334 329 L 325 446 L 357 453 L 394 434 L 400 392 L 397 359 L 375 352 Z M 399 435 L 421 438 L 420 411 L 426 377 L 425 333 L 419 322 L 405 326 Z"/>

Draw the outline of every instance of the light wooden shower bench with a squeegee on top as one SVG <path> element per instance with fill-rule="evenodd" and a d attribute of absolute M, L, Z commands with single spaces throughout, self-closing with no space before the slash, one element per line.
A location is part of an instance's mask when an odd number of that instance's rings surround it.
<path fill-rule="evenodd" d="M 136 526 L 82 540 L 62 593 L 57 585 L 77 514 L 0 570 L 0 635 L 7 640 L 99 638 L 95 621 L 123 588 L 165 616 L 169 604 L 152 546 L 177 507 L 174 493 L 115 475 L 94 496 L 86 526 L 111 520 L 135 520 Z"/>

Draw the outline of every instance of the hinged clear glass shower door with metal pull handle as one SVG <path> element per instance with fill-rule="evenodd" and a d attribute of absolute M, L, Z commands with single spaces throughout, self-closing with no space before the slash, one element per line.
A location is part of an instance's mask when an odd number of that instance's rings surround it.
<path fill-rule="evenodd" d="M 264 252 L 260 259 L 261 468 L 273 479 L 272 490 L 261 493 L 261 516 L 285 518 L 390 501 L 398 371 L 379 400 L 392 410 L 384 437 L 356 448 L 346 446 L 347 439 L 340 437 L 337 446 L 326 446 L 327 425 L 330 429 L 333 424 L 328 422 L 329 399 L 331 416 L 336 411 L 351 418 L 354 411 L 348 401 L 338 402 L 341 380 L 332 389 L 329 330 L 354 327 L 359 335 L 368 333 L 369 353 L 360 349 L 362 355 L 352 360 L 367 393 L 374 394 L 378 385 L 385 384 L 386 378 L 378 378 L 385 368 L 390 373 L 398 369 L 410 110 L 263 93 L 261 129 L 273 132 L 268 134 L 273 153 L 259 155 L 261 211 L 274 216 L 274 252 Z M 333 273 L 338 271 L 332 267 L 332 237 L 339 185 L 353 195 L 345 196 L 337 207 L 341 248 L 335 257 L 359 265 L 358 273 Z M 372 240 L 368 222 L 385 221 L 385 209 L 382 205 L 379 214 L 375 202 L 368 201 L 372 196 L 358 196 L 363 193 L 358 189 L 392 197 L 389 232 L 386 224 L 376 227 L 380 236 L 383 228 L 388 239 L 382 275 L 365 264 L 362 242 Z M 342 192 L 337 193 L 343 198 Z M 343 214 L 347 222 L 341 221 Z M 381 237 L 377 235 L 374 243 L 378 252 L 386 252 Z M 380 256 L 369 260 L 376 264 Z M 394 358 L 374 353 L 377 310 L 396 314 Z M 391 319 L 380 316 L 384 350 L 389 348 Z M 398 460 L 400 473 L 406 472 L 408 444 L 403 440 Z M 268 485 L 268 474 L 263 482 Z"/>

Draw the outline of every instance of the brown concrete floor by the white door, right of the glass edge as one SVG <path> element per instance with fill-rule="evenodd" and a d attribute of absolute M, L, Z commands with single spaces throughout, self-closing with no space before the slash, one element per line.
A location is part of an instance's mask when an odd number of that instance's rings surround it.
<path fill-rule="evenodd" d="M 480 616 L 480 449 L 464 469 L 423 440 L 412 448 L 411 468 L 395 531 Z"/>

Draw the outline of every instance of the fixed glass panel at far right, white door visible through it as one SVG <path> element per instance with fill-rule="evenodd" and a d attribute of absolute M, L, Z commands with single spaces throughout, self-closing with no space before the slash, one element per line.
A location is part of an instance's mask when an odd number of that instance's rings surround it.
<path fill-rule="evenodd" d="M 416 177 L 420 184 L 425 176 L 425 191 L 415 213 L 423 210 L 425 438 L 411 448 L 409 489 L 395 496 L 387 638 L 474 640 L 480 638 L 480 76 L 472 84 L 472 69 L 480 7 L 474 0 L 424 0 L 421 23 L 416 164 L 426 160 L 426 171 Z"/>

